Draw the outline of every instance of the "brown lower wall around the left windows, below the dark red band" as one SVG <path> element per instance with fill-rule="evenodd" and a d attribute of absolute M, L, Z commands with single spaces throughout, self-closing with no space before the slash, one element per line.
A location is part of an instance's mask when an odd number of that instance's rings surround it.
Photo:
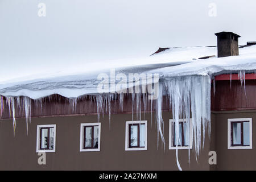
<path fill-rule="evenodd" d="M 154 114 L 153 114 L 154 117 Z M 125 122 L 131 121 L 131 114 L 112 114 L 112 121 L 105 115 L 101 119 L 101 151 L 80 152 L 80 123 L 97 122 L 97 115 L 73 117 L 32 118 L 26 135 L 26 122 L 17 119 L 15 137 L 13 121 L 0 123 L 0 169 L 1 170 L 177 170 L 175 150 L 168 150 L 170 112 L 163 112 L 166 150 L 159 142 L 154 118 L 151 127 L 151 114 L 148 121 L 147 151 L 125 151 Z M 144 119 L 142 115 L 142 119 Z M 46 153 L 46 165 L 39 165 L 36 153 L 36 126 L 56 124 L 56 152 Z M 184 170 L 209 170 L 209 138 L 196 162 L 191 151 L 188 163 L 188 150 L 179 150 L 180 165 Z"/>

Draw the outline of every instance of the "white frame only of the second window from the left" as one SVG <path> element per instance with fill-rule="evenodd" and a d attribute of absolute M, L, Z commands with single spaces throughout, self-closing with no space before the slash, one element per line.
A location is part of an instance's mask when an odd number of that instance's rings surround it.
<path fill-rule="evenodd" d="M 83 148 L 84 126 L 98 126 L 98 148 Z M 80 152 L 101 151 L 101 123 L 81 123 L 80 126 Z"/>

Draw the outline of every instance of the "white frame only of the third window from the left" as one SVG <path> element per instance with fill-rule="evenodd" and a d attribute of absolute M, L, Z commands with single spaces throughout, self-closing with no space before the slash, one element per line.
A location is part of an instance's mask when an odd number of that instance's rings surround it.
<path fill-rule="evenodd" d="M 129 147 L 129 125 L 130 124 L 144 124 L 145 125 L 145 132 L 144 132 L 144 138 L 145 138 L 145 147 Z M 126 121 L 125 126 L 125 150 L 126 151 L 140 151 L 140 150 L 147 150 L 147 121 Z"/>

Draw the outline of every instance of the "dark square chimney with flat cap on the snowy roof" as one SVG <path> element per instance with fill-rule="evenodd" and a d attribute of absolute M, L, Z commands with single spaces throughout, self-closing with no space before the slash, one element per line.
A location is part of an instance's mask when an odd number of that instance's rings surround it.
<path fill-rule="evenodd" d="M 240 35 L 233 32 L 219 32 L 217 36 L 218 57 L 237 56 L 238 52 L 238 38 Z"/>

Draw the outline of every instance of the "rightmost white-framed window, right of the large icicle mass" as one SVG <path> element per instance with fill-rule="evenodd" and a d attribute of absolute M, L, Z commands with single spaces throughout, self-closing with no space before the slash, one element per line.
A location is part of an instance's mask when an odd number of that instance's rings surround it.
<path fill-rule="evenodd" d="M 228 119 L 228 149 L 251 149 L 252 119 Z"/>

